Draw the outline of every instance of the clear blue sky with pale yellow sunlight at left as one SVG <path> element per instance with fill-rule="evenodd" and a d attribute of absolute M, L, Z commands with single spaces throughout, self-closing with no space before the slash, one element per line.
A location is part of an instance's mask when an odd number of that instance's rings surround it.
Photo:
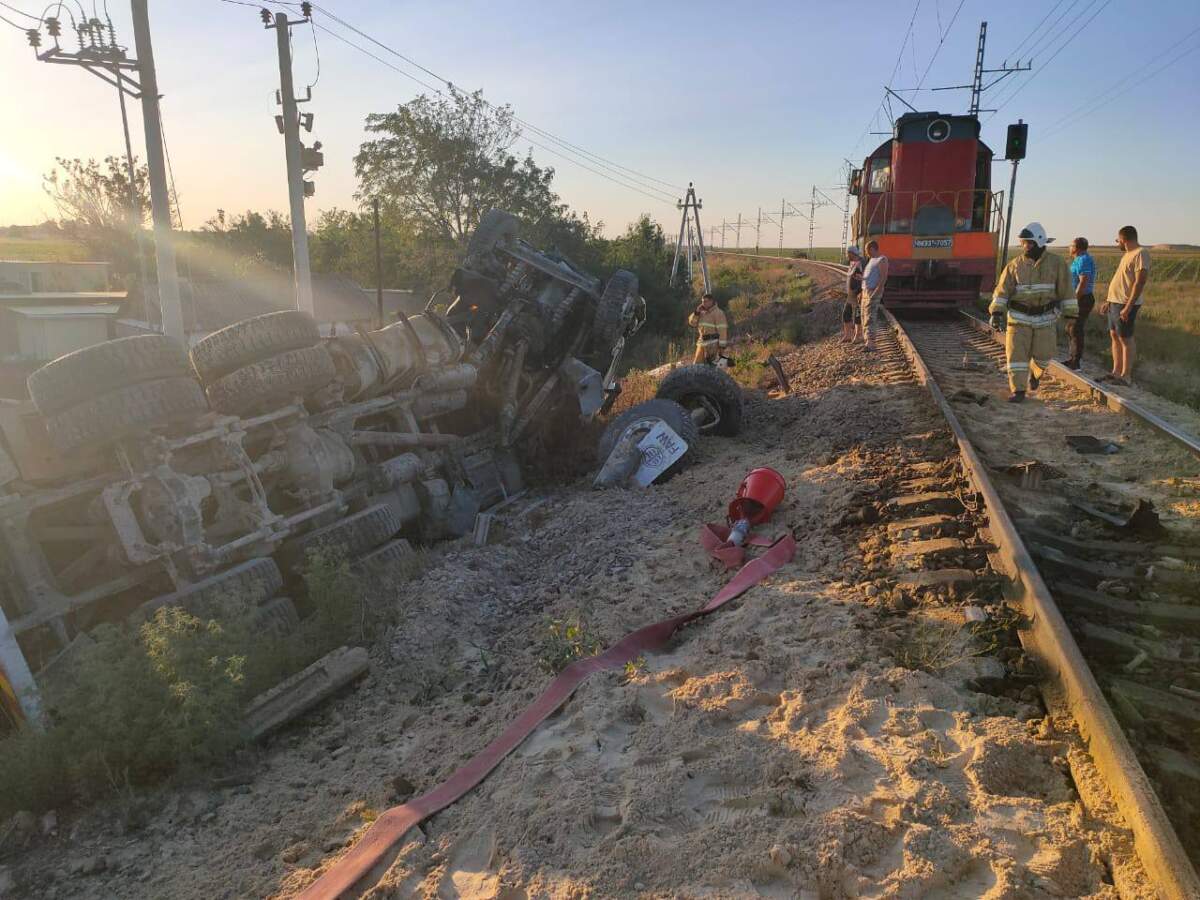
<path fill-rule="evenodd" d="M 91 12 L 92 0 L 82 2 Z M 12 7 L 38 16 L 38 6 L 5 0 L 0 16 L 24 26 L 32 23 Z M 132 47 L 127 0 L 107 6 L 119 42 Z M 263 29 L 256 6 L 150 2 L 163 125 L 188 228 L 218 209 L 287 210 L 283 143 L 272 119 L 275 32 Z M 103 0 L 97 7 L 103 16 Z M 677 230 L 674 202 L 692 181 L 706 239 L 739 212 L 754 223 L 762 208 L 778 221 L 784 200 L 809 212 L 812 185 L 844 203 L 844 157 L 860 166 L 887 139 L 866 133 L 890 128 L 880 106 L 886 84 L 918 109 L 965 112 L 967 91 L 928 89 L 971 80 L 986 19 L 988 67 L 1013 62 L 1014 50 L 1022 62 L 1033 53 L 1033 71 L 1010 76 L 983 103 L 1000 107 L 982 116 L 984 139 L 996 150 L 996 187 L 1007 187 L 1010 173 L 998 161 L 1004 127 L 1018 118 L 1030 124 L 1014 221 L 1040 221 L 1060 242 L 1085 235 L 1108 245 L 1132 223 L 1147 244 L 1200 244 L 1196 0 L 324 0 L 317 7 L 317 23 L 395 67 L 437 85 L 329 13 L 601 157 L 581 161 L 532 131 L 514 146 L 518 155 L 532 148 L 539 163 L 553 166 L 563 199 L 604 222 L 606 233 L 642 212 Z M 78 0 L 70 8 L 80 14 Z M 306 206 L 310 223 L 319 210 L 355 205 L 352 160 L 366 115 L 427 92 L 324 31 L 316 31 L 314 46 L 313 34 L 304 25 L 293 36 L 298 88 L 316 79 L 305 109 L 316 115 L 311 137 L 325 154 Z M 42 175 L 55 156 L 124 152 L 116 92 L 83 70 L 37 61 L 22 31 L 4 22 L 0 50 L 0 226 L 31 224 L 53 216 Z M 913 92 L 918 84 L 923 90 Z M 902 106 L 893 101 L 893 109 L 899 115 Z M 131 125 L 143 156 L 137 103 Z M 618 174 L 625 178 L 614 180 Z M 737 239 L 727 230 L 725 240 L 733 246 Z M 761 240 L 778 245 L 778 227 L 763 224 Z M 841 211 L 818 209 L 814 244 L 840 240 Z M 784 245 L 808 241 L 808 221 L 788 208 Z M 752 224 L 743 224 L 740 244 L 754 246 Z"/>

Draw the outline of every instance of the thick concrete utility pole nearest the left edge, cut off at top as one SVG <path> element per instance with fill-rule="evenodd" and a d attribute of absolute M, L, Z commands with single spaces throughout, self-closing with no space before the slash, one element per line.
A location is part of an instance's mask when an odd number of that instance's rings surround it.
<path fill-rule="evenodd" d="M 175 271 L 175 244 L 170 229 L 170 194 L 162 154 L 162 126 L 158 113 L 158 79 L 150 43 L 150 14 L 146 0 L 132 0 L 133 43 L 138 54 L 142 83 L 142 122 L 146 136 L 146 168 L 150 172 L 150 211 L 154 216 L 154 248 L 158 266 L 158 307 L 162 331 L 179 341 L 184 335 L 184 308 L 179 302 L 179 274 Z"/>

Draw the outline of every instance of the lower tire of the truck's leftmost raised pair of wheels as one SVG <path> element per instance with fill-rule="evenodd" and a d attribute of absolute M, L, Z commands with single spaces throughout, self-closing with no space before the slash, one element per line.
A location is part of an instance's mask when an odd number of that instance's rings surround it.
<path fill-rule="evenodd" d="M 48 415 L 46 431 L 59 451 L 70 454 L 206 412 L 204 391 L 194 378 L 162 378 L 118 388 Z"/>

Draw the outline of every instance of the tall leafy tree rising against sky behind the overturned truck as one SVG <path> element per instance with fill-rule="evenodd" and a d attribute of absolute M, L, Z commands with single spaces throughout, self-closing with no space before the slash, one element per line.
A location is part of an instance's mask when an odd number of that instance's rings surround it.
<path fill-rule="evenodd" d="M 395 113 L 372 113 L 366 130 L 377 137 L 354 157 L 358 199 L 366 205 L 378 197 L 421 234 L 461 246 L 493 208 L 534 232 L 551 223 L 589 230 L 551 190 L 552 168 L 509 152 L 521 134 L 512 109 L 492 106 L 481 91 L 421 95 Z"/>

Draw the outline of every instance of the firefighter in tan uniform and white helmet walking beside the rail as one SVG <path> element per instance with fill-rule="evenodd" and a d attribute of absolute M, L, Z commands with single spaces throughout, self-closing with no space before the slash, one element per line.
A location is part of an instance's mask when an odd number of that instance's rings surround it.
<path fill-rule="evenodd" d="M 1067 264 L 1046 252 L 1054 238 L 1046 238 L 1038 222 L 1025 226 L 1018 238 L 1025 252 L 1004 266 L 988 307 L 997 331 L 1008 322 L 1004 356 L 1012 403 L 1025 400 L 1026 390 L 1038 389 L 1055 353 L 1058 319 L 1079 316 Z"/>

